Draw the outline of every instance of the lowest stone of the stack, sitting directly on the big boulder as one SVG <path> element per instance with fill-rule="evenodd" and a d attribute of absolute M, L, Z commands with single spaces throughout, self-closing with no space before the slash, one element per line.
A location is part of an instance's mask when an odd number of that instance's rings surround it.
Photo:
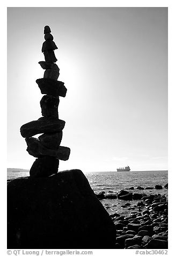
<path fill-rule="evenodd" d="M 58 172 L 59 159 L 53 157 L 42 157 L 34 161 L 31 169 L 30 176 L 33 177 L 48 177 Z"/>

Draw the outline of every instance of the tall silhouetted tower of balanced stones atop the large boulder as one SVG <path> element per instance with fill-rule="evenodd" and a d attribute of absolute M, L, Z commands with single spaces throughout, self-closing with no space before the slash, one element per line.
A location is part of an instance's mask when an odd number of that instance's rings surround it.
<path fill-rule="evenodd" d="M 21 136 L 27 143 L 28 153 L 37 158 L 30 169 L 30 176 L 36 177 L 47 177 L 57 173 L 59 159 L 68 160 L 70 155 L 70 148 L 60 146 L 65 122 L 59 119 L 59 96 L 65 97 L 67 89 L 63 82 L 57 81 L 60 75 L 60 69 L 55 64 L 57 59 L 54 50 L 57 46 L 50 32 L 50 27 L 45 26 L 45 42 L 42 44 L 45 61 L 39 62 L 45 73 L 43 78 L 36 81 L 41 94 L 45 94 L 40 101 L 42 117 L 20 128 Z M 40 133 L 43 134 L 38 139 L 32 137 Z"/>

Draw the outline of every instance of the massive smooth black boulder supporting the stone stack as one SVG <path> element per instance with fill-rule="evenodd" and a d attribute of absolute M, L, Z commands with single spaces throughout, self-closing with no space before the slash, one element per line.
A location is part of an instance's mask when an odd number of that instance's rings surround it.
<path fill-rule="evenodd" d="M 8 248 L 114 248 L 115 226 L 81 170 L 8 183 Z"/>

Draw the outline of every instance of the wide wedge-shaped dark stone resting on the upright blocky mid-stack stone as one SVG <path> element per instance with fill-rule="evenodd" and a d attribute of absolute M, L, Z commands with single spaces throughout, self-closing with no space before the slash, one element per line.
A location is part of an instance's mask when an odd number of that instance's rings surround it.
<path fill-rule="evenodd" d="M 48 94 L 53 96 L 65 97 L 67 89 L 64 86 L 64 83 L 61 81 L 56 81 L 48 78 L 41 78 L 36 80 L 41 94 Z"/>

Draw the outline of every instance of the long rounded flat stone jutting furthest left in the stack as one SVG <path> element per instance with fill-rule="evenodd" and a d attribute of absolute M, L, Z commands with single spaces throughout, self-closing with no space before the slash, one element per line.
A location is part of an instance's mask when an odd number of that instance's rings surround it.
<path fill-rule="evenodd" d="M 21 136 L 32 137 L 39 133 L 60 132 L 65 122 L 55 117 L 41 117 L 20 127 Z"/>

